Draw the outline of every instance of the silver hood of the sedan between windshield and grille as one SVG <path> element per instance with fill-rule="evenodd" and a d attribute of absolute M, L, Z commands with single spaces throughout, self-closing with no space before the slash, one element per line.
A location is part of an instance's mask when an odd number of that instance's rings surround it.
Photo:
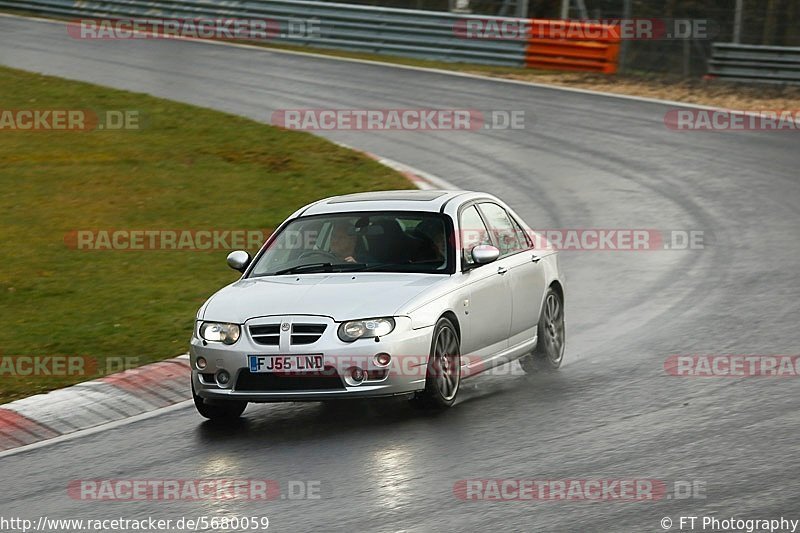
<path fill-rule="evenodd" d="M 322 315 L 336 321 L 392 316 L 403 304 L 447 279 L 445 275 L 394 273 L 248 278 L 213 295 L 202 318 L 242 324 L 270 315 Z"/>

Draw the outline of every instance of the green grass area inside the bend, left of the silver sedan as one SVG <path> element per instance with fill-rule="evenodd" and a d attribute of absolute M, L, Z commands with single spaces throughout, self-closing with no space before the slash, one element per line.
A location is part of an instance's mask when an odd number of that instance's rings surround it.
<path fill-rule="evenodd" d="M 88 356 L 97 374 L 0 373 L 0 403 L 185 353 L 195 312 L 236 279 L 228 250 L 81 251 L 80 229 L 265 229 L 324 196 L 409 188 L 303 132 L 0 68 L 2 109 L 138 110 L 138 131 L 0 130 L 0 357 Z M 2 366 L 0 366 L 2 369 Z"/>

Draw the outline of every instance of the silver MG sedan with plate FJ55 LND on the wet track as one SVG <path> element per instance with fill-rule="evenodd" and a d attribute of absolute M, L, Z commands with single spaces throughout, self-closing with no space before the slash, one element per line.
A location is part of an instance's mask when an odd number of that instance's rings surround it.
<path fill-rule="evenodd" d="M 462 379 L 564 356 L 555 250 L 492 195 L 385 191 L 327 198 L 284 221 L 206 301 L 191 340 L 201 415 L 248 402 L 407 395 L 453 405 Z"/>

